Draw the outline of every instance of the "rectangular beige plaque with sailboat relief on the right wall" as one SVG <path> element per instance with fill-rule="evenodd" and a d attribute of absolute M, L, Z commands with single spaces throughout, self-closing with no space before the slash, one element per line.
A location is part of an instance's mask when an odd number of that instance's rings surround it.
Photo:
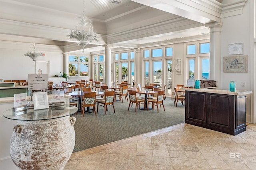
<path fill-rule="evenodd" d="M 223 72 L 248 72 L 248 56 L 223 57 Z"/>

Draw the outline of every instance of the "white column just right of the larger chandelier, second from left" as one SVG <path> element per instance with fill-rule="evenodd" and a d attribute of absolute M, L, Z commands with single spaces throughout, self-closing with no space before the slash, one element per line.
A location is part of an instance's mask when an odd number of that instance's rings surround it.
<path fill-rule="evenodd" d="M 111 49 L 110 45 L 103 45 L 103 47 L 105 47 L 104 83 L 111 87 Z"/>

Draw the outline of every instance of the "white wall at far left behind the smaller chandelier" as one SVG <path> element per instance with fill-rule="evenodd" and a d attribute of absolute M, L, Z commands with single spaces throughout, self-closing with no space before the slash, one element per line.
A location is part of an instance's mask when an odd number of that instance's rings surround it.
<path fill-rule="evenodd" d="M 63 72 L 63 54 L 60 47 L 53 45 L 36 44 L 38 49 L 45 53 L 37 60 L 50 61 L 49 77 Z M 25 57 L 31 51 L 30 43 L 16 43 L 0 41 L 0 79 L 4 80 L 26 80 L 27 74 L 35 73 L 35 65 L 30 57 Z"/>

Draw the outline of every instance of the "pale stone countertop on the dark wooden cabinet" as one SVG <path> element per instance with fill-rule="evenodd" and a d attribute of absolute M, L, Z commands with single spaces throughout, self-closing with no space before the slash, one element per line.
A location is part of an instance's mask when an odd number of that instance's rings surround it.
<path fill-rule="evenodd" d="M 230 92 L 229 90 L 218 90 L 218 89 L 208 89 L 208 88 L 181 88 L 182 90 L 186 91 L 194 91 L 194 92 L 205 92 L 205 93 L 216 93 L 216 94 L 228 94 L 228 95 L 246 95 L 246 94 L 252 94 L 252 91 L 250 90 L 236 90 L 236 92 Z"/>

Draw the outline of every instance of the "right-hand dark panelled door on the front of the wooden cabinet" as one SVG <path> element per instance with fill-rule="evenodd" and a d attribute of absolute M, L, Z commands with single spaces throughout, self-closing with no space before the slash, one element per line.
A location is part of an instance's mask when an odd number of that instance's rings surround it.
<path fill-rule="evenodd" d="M 234 130 L 234 96 L 225 94 L 207 94 L 208 124 Z M 234 118 L 233 118 L 234 119 Z"/>

